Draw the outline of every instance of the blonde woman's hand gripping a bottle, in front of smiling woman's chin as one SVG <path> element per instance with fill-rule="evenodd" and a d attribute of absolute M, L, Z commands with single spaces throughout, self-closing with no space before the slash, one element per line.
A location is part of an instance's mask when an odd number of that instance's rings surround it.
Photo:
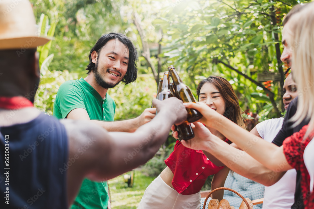
<path fill-rule="evenodd" d="M 214 123 L 217 123 L 217 122 L 219 123 L 224 117 L 223 115 L 219 114 L 212 108 L 208 107 L 203 102 L 197 102 L 197 103 L 187 102 L 187 103 L 183 103 L 183 105 L 185 107 L 196 109 L 199 112 L 201 112 L 203 117 L 198 121 L 211 128 L 214 128 Z"/>

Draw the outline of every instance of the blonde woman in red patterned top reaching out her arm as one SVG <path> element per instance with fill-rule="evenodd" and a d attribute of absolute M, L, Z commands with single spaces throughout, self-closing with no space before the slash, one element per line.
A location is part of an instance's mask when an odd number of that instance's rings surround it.
<path fill-rule="evenodd" d="M 314 208 L 314 193 L 311 178 L 313 179 L 314 166 L 311 166 L 313 165 L 313 155 L 311 155 L 313 145 L 310 142 L 314 138 L 314 2 L 295 6 L 286 15 L 284 23 L 282 33 L 284 51 L 281 60 L 291 66 L 293 78 L 300 90 L 298 90 L 297 111 L 290 120 L 295 122 L 292 127 L 303 123 L 304 119 L 309 120 L 308 125 L 286 138 L 282 146 L 278 147 L 239 128 L 235 123 L 221 117 L 202 103 L 189 102 L 184 105 L 200 111 L 203 114 L 201 123 L 219 130 L 240 149 L 245 150 L 262 165 L 273 170 L 274 175 L 293 168 L 300 172 L 301 177 L 297 178 L 300 179 L 301 184 L 301 200 L 305 209 L 312 209 Z M 201 123 L 195 123 L 194 133 L 197 132 L 203 137 L 195 137 L 182 144 L 208 152 L 219 149 L 221 145 L 219 138 L 203 128 Z M 308 144 L 310 144 L 310 151 L 306 149 Z M 299 206 L 302 202 L 297 201 L 295 204 Z"/>

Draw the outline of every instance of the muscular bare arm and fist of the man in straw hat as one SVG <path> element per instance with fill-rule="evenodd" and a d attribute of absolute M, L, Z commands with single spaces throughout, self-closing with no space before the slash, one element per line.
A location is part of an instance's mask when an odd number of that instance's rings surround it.
<path fill-rule="evenodd" d="M 187 111 L 177 98 L 154 100 L 157 116 L 134 133 L 107 132 L 89 121 L 63 121 L 69 138 L 69 159 L 76 159 L 68 169 L 71 203 L 85 176 L 104 181 L 143 165 L 165 142 L 172 124 L 187 118 Z"/>

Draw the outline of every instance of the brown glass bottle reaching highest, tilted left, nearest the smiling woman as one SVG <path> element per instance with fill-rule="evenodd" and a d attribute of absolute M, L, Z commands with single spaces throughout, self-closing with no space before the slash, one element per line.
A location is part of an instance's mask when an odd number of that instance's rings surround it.
<path fill-rule="evenodd" d="M 173 65 L 170 65 L 168 67 L 168 71 L 172 78 L 174 86 L 176 86 L 176 97 L 181 99 L 183 102 L 196 103 L 191 89 L 182 82 Z M 195 109 L 187 108 L 187 114 L 187 121 L 190 123 L 193 123 L 203 117 L 203 115 Z"/>

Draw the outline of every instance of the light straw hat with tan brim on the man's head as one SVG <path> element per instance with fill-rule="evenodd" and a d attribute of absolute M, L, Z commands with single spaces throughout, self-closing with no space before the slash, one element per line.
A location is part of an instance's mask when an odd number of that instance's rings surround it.
<path fill-rule="evenodd" d="M 39 37 L 29 0 L 0 0 L 0 50 L 28 49 L 46 44 Z"/>

